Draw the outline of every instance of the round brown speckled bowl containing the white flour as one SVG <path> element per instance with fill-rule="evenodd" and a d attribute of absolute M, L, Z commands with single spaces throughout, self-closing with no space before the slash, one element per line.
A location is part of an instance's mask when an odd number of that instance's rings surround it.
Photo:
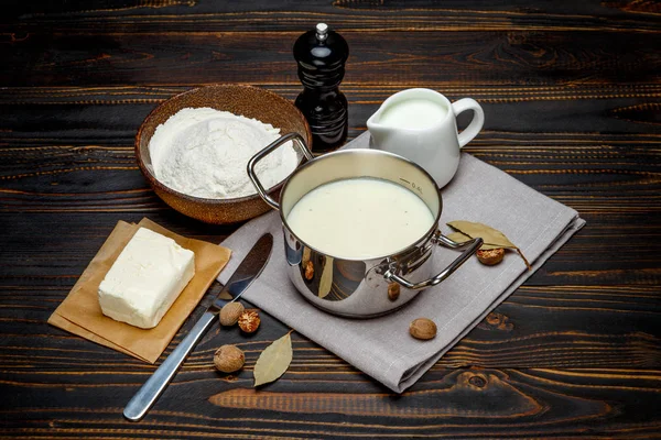
<path fill-rule="evenodd" d="M 155 178 L 149 154 L 149 141 L 159 124 L 187 107 L 210 107 L 246 118 L 256 118 L 279 128 L 280 134 L 296 132 L 311 145 L 312 133 L 303 114 L 293 103 L 272 91 L 246 85 L 217 85 L 188 90 L 170 98 L 156 107 L 138 130 L 136 157 L 140 170 L 156 195 L 175 210 L 215 224 L 235 223 L 268 211 L 269 206 L 257 194 L 235 199 L 207 199 L 178 193 Z M 281 182 L 269 190 L 271 197 L 278 198 L 282 184 Z"/>

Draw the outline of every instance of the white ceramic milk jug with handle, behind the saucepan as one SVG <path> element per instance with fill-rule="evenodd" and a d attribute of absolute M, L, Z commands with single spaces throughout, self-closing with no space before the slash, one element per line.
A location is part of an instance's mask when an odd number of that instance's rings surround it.
<path fill-rule="evenodd" d="M 473 110 L 468 127 L 457 133 L 456 116 Z M 399 154 L 426 169 L 438 187 L 459 166 L 459 150 L 479 133 L 485 122 L 481 107 L 470 98 L 449 102 L 437 91 L 407 89 L 388 98 L 367 121 L 370 146 Z"/>

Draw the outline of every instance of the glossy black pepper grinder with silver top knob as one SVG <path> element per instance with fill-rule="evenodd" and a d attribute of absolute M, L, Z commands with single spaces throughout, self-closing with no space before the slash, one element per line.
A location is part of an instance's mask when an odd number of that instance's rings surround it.
<path fill-rule="evenodd" d="M 312 152 L 316 155 L 339 147 L 347 139 L 347 98 L 339 91 L 349 46 L 328 25 L 318 23 L 294 43 L 294 58 L 303 91 L 296 107 L 312 130 Z"/>

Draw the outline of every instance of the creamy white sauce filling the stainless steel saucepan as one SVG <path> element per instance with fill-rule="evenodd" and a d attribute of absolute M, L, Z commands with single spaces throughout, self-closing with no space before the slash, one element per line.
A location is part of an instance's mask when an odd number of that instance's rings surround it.
<path fill-rule="evenodd" d="M 310 246 L 347 260 L 387 256 L 420 240 L 434 216 L 393 183 L 353 178 L 322 185 L 296 202 L 286 222 Z"/>

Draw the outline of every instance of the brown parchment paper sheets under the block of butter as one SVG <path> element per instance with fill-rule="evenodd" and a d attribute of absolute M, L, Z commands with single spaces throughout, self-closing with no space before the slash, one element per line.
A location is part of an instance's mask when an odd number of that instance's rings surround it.
<path fill-rule="evenodd" d="M 106 317 L 98 300 L 101 280 L 140 227 L 170 237 L 195 252 L 195 276 L 161 322 L 149 330 Z M 226 248 L 177 235 L 149 219 L 138 224 L 119 221 L 68 296 L 51 315 L 48 323 L 153 364 L 225 267 L 230 254 Z"/>

